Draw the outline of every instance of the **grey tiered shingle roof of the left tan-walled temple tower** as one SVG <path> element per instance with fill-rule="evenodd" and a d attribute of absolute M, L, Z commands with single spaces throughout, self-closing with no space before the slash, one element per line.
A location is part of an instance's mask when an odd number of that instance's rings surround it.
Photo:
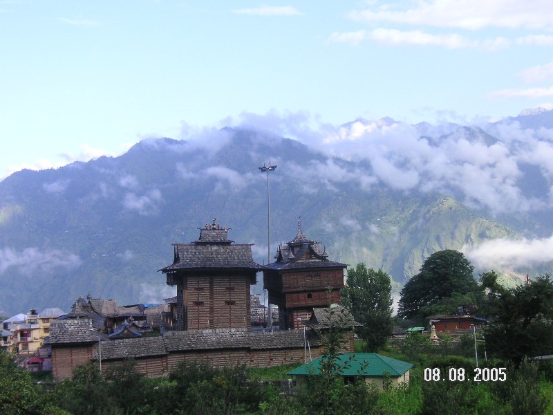
<path fill-rule="evenodd" d="M 162 273 L 198 269 L 250 269 L 263 270 L 254 262 L 252 244 L 233 244 L 227 239 L 230 228 L 221 228 L 215 219 L 212 225 L 200 228 L 200 237 L 191 243 L 173 243 L 173 264 L 160 269 Z"/>

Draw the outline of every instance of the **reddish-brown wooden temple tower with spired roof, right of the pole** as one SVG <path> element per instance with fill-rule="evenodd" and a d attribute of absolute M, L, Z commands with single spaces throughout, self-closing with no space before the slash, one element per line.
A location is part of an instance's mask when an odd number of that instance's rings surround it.
<path fill-rule="evenodd" d="M 269 293 L 269 304 L 279 307 L 281 329 L 299 329 L 314 307 L 340 302 L 347 264 L 329 261 L 321 242 L 303 236 L 301 221 L 298 234 L 281 243 L 276 259 L 263 270 L 263 288 Z"/>

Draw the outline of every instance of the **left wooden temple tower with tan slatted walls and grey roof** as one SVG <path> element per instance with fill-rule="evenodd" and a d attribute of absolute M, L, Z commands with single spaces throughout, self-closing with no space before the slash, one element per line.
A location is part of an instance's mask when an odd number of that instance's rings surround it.
<path fill-rule="evenodd" d="M 251 328 L 250 286 L 263 266 L 252 244 L 233 244 L 229 230 L 214 219 L 197 241 L 173 244 L 173 264 L 160 271 L 177 286 L 176 330 Z"/>

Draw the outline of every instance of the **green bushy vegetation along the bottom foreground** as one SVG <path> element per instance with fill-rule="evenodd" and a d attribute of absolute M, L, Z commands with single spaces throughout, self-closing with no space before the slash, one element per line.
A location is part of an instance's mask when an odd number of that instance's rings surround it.
<path fill-rule="evenodd" d="M 420 337 L 413 336 L 418 340 Z M 413 344 L 413 340 L 409 344 Z M 383 354 L 407 360 L 400 349 Z M 507 367 L 505 382 L 474 382 L 474 359 L 421 352 L 411 369 L 409 385 L 378 391 L 365 382 L 344 383 L 334 373 L 313 376 L 294 393 L 274 382 L 261 381 L 263 371 L 285 379 L 290 366 L 272 369 L 183 362 L 162 378 L 145 378 L 132 360 L 102 371 L 95 364 L 79 367 L 71 380 L 47 387 L 36 385 L 23 370 L 1 354 L 0 413 L 2 414 L 543 414 L 553 396 L 550 365 L 523 360 Z M 332 362 L 332 358 L 330 359 Z M 482 365 L 480 365 L 482 367 Z M 425 380 L 425 368 L 465 369 L 465 381 Z M 447 377 L 447 376 L 446 376 Z M 255 380 L 254 380 L 255 379 Z M 550 413 L 550 412 L 547 412 Z"/>

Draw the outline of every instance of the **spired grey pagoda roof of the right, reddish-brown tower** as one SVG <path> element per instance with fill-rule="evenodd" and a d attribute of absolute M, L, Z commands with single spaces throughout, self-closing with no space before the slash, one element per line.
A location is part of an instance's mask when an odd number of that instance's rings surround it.
<path fill-rule="evenodd" d="M 297 270 L 301 268 L 346 268 L 348 264 L 329 261 L 326 248 L 320 241 L 312 241 L 301 232 L 298 220 L 298 233 L 292 241 L 281 243 L 275 257 L 277 261 L 265 266 L 273 270 Z"/>

